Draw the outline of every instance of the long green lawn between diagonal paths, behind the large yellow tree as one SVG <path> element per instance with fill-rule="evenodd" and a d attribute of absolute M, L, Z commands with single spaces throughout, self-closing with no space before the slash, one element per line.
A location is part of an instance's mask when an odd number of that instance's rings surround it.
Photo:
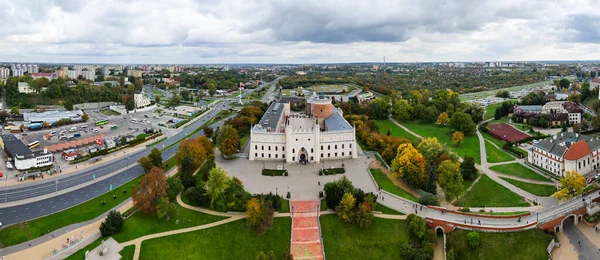
<path fill-rule="evenodd" d="M 472 156 L 475 163 L 481 163 L 479 153 L 479 139 L 477 135 L 465 136 L 465 140 L 460 146 L 452 144 L 451 138 L 453 131 L 450 128 L 437 126 L 433 124 L 419 124 L 417 122 L 403 122 L 402 125 L 422 137 L 437 137 L 438 141 L 446 144 L 446 147 L 457 153 L 460 157 Z"/>

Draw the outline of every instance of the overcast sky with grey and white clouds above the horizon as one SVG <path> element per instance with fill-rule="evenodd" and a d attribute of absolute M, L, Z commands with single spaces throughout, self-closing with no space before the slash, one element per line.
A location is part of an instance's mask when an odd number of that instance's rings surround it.
<path fill-rule="evenodd" d="M 2 0 L 0 61 L 600 59 L 600 2 Z"/>

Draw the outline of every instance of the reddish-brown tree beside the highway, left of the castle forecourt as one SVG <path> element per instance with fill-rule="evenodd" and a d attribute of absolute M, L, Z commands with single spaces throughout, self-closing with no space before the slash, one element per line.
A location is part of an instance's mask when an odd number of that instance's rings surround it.
<path fill-rule="evenodd" d="M 167 196 L 168 188 L 165 172 L 154 167 L 142 177 L 139 185 L 133 187 L 133 205 L 146 214 L 155 214 L 158 201 Z"/>

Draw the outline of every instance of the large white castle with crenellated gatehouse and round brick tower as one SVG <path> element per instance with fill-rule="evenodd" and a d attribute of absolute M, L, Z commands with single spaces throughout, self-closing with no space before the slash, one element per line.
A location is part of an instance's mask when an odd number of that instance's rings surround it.
<path fill-rule="evenodd" d="M 356 158 L 355 129 L 325 97 L 309 99 L 305 113 L 276 101 L 250 131 L 250 160 L 318 163 Z"/>

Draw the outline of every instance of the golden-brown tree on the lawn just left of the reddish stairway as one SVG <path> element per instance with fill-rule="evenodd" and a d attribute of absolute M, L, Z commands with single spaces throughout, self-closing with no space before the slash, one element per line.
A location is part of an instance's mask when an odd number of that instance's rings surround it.
<path fill-rule="evenodd" d="M 252 198 L 246 203 L 248 226 L 259 234 L 273 225 L 273 208 L 264 199 Z"/>

